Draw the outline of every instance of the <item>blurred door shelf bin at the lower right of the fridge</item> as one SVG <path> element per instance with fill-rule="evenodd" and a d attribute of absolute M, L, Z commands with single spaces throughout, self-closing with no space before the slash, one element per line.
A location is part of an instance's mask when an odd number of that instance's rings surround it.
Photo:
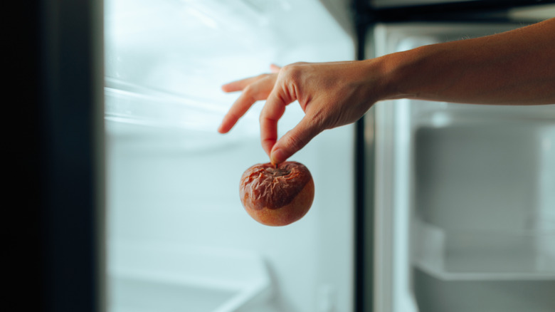
<path fill-rule="evenodd" d="M 438 279 L 555 279 L 555 228 L 448 231 L 415 221 L 413 230 L 413 264 Z"/>

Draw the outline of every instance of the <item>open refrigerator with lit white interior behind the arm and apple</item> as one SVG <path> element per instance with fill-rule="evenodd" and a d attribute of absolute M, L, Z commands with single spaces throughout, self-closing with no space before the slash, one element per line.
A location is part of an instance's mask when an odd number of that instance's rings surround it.
<path fill-rule="evenodd" d="M 271 63 L 484 36 L 555 16 L 549 3 L 41 2 L 21 93 L 37 104 L 21 177 L 41 309 L 554 311 L 554 105 L 376 103 L 291 157 L 315 195 L 286 227 L 239 198 L 268 162 L 263 103 L 216 132 L 238 97 L 220 86 Z M 288 105 L 279 135 L 302 114 Z"/>

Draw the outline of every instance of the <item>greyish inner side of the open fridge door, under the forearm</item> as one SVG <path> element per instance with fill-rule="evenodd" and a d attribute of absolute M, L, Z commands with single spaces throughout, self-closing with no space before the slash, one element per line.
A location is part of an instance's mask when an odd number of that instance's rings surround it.
<path fill-rule="evenodd" d="M 367 52 L 518 26 L 379 24 Z M 394 100 L 374 115 L 376 311 L 554 311 L 555 105 Z"/>

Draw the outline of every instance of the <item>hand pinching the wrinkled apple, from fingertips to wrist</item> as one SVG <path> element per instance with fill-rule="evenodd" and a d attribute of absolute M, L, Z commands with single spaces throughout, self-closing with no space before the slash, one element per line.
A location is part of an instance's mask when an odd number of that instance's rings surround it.
<path fill-rule="evenodd" d="M 271 66 L 272 73 L 222 86 L 226 92 L 243 90 L 223 118 L 218 132 L 231 130 L 257 100 L 266 103 L 260 113 L 260 140 L 274 164 L 284 162 L 326 129 L 354 123 L 379 99 L 381 82 L 368 76 L 368 61 L 294 63 Z M 381 92 L 380 92 L 381 93 Z M 277 140 L 277 121 L 285 106 L 298 100 L 305 116 Z"/>

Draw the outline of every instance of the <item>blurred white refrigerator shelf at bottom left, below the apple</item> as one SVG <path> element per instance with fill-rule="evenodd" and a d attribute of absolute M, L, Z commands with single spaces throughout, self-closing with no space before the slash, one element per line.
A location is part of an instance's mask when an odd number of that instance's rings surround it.
<path fill-rule="evenodd" d="M 253 252 L 126 241 L 108 249 L 108 309 L 233 312 L 263 304 L 270 277 Z"/>

